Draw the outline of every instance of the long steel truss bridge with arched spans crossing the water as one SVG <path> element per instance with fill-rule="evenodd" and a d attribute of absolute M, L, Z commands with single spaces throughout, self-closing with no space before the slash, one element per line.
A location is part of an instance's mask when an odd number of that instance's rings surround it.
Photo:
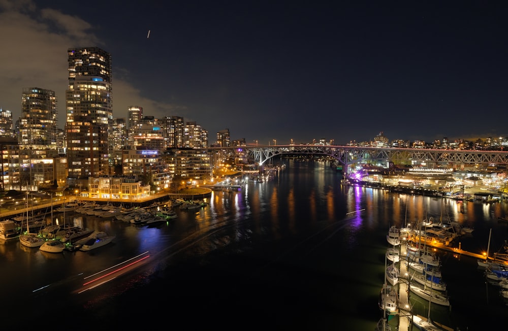
<path fill-rule="evenodd" d="M 287 156 L 323 156 L 335 159 L 344 169 L 354 163 L 391 162 L 396 165 L 434 164 L 481 164 L 487 166 L 508 165 L 507 151 L 449 150 L 423 148 L 389 148 L 323 145 L 274 145 L 213 147 L 210 151 L 223 150 L 238 157 L 247 157 L 260 166 L 271 158 Z"/>

